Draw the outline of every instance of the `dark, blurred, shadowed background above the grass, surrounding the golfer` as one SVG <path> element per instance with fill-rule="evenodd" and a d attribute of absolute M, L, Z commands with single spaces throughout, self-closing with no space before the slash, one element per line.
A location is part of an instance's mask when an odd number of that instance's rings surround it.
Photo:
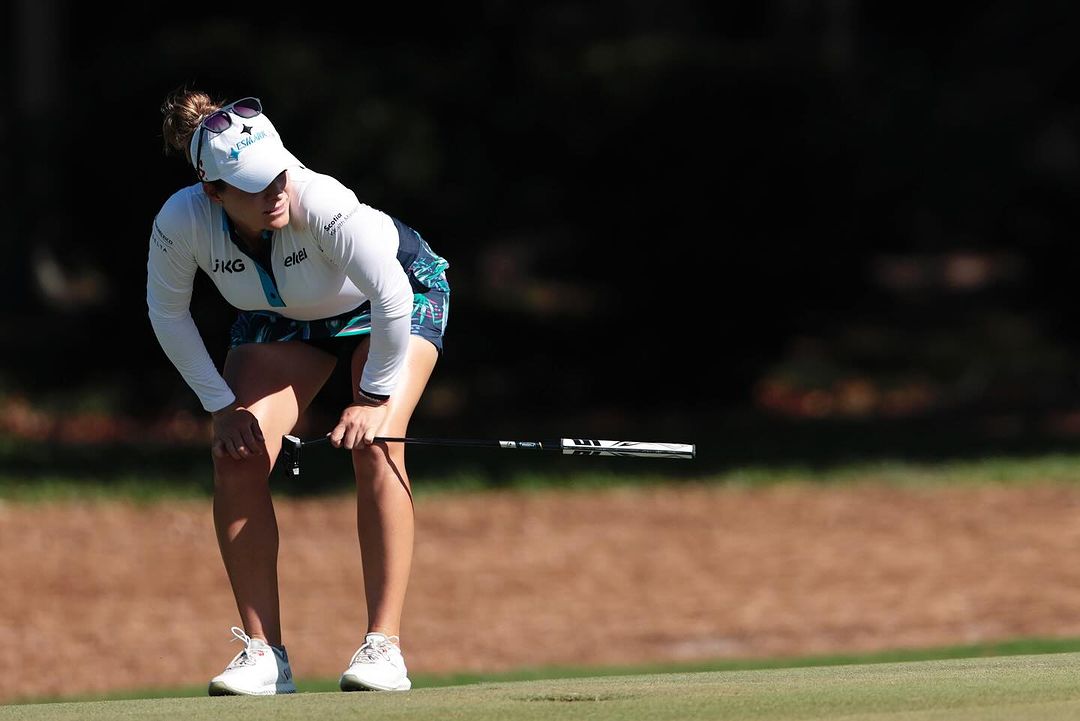
<path fill-rule="evenodd" d="M 416 435 L 697 443 L 700 473 L 1080 428 L 1075 3 L 4 13 L 0 382 L 37 419 L 10 437 L 202 422 L 145 305 L 150 223 L 192 179 L 162 152 L 181 84 L 260 97 L 450 261 Z M 192 310 L 224 359 L 202 274 Z"/>

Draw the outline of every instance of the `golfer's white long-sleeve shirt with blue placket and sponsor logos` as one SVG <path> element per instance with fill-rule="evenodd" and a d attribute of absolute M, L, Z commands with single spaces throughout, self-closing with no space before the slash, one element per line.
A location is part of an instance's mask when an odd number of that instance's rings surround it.
<path fill-rule="evenodd" d="M 146 301 L 162 350 L 208 411 L 235 395 L 214 366 L 191 317 L 195 271 L 202 269 L 239 310 L 274 311 L 314 321 L 372 301 L 370 349 L 361 387 L 393 392 L 409 339 L 413 290 L 397 260 L 390 216 L 361 203 L 327 175 L 288 171 L 289 225 L 273 233 L 272 268 L 261 268 L 229 234 L 220 205 L 202 183 L 174 193 L 154 218 Z"/>

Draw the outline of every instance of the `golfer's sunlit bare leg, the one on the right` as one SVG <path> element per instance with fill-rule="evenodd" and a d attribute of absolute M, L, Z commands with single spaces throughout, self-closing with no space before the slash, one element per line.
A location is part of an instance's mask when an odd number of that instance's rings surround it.
<path fill-rule="evenodd" d="M 367 343 L 352 358 L 353 389 L 367 359 Z M 403 376 L 390 399 L 382 436 L 405 436 L 438 352 L 429 341 L 409 340 Z M 354 391 L 355 393 L 355 391 Z M 360 538 L 367 630 L 399 636 L 405 590 L 413 567 L 413 493 L 405 472 L 405 444 L 375 444 L 353 450 L 356 530 Z"/>

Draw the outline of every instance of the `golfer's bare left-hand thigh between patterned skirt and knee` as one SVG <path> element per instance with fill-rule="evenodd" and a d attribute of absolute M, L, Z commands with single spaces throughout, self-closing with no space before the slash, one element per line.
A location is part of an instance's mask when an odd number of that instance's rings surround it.
<path fill-rule="evenodd" d="M 276 446 L 329 378 L 334 356 L 298 341 L 244 343 L 229 351 L 222 375 L 240 405 Z"/>

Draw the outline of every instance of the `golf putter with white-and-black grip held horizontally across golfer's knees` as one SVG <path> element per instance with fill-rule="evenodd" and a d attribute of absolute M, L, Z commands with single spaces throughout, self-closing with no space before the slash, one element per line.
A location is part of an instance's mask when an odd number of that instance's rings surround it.
<path fill-rule="evenodd" d="M 285 435 L 281 440 L 281 455 L 288 473 L 300 475 L 300 449 L 313 444 L 329 443 L 329 436 L 301 440 Z M 693 444 L 649 443 L 642 440 L 596 440 L 594 438 L 558 438 L 555 440 L 473 440 L 469 438 L 383 438 L 376 443 L 413 444 L 417 446 L 465 446 L 472 448 L 511 448 L 519 450 L 556 451 L 564 455 L 621 455 L 639 458 L 692 459 L 697 454 Z"/>

